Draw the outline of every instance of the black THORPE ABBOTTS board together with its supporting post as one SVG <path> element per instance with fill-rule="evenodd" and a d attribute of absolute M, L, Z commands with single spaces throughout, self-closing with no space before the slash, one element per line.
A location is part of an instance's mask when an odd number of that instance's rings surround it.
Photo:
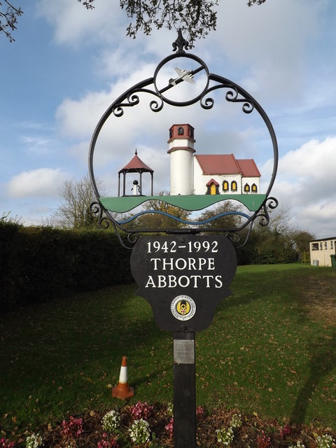
<path fill-rule="evenodd" d="M 195 331 L 207 328 L 230 295 L 237 260 L 223 235 L 141 237 L 131 255 L 139 289 L 156 323 L 173 332 L 174 447 L 196 447 Z"/>

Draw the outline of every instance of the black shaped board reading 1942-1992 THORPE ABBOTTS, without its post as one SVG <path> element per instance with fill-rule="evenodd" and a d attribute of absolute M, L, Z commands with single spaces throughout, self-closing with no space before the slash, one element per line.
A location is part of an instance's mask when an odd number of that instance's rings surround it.
<path fill-rule="evenodd" d="M 237 258 L 223 235 L 141 237 L 131 269 L 162 330 L 195 332 L 211 325 L 217 304 L 230 295 Z"/>

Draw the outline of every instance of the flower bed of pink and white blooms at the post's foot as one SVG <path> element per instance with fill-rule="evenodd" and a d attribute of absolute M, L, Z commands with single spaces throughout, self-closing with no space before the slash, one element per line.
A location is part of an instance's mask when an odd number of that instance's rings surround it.
<path fill-rule="evenodd" d="M 108 412 L 69 416 L 46 430 L 21 437 L 18 442 L 0 439 L 0 448 L 131 448 L 174 447 L 174 409 L 169 403 L 138 402 Z M 237 410 L 197 407 L 197 447 L 332 448 L 336 434 L 330 428 L 298 426 L 246 416 Z"/>

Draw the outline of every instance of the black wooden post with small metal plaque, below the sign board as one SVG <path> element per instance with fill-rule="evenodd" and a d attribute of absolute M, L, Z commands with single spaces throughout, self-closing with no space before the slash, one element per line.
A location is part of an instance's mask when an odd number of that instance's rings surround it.
<path fill-rule="evenodd" d="M 174 332 L 174 448 L 196 448 L 195 332 Z"/>

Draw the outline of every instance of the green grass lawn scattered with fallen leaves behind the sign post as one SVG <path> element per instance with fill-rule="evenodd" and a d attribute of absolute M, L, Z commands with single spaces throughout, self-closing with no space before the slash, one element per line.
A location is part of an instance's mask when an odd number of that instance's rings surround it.
<path fill-rule="evenodd" d="M 196 335 L 197 404 L 336 429 L 336 270 L 238 267 L 232 295 Z M 172 334 L 137 286 L 7 314 L 0 323 L 0 425 L 17 433 L 110 409 L 128 357 L 131 402 L 172 401 Z"/>

